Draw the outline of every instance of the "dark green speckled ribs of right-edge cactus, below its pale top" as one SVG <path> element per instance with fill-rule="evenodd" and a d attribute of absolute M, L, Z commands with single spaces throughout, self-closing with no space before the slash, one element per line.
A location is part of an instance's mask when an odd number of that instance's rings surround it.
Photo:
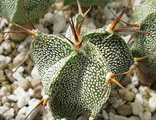
<path fill-rule="evenodd" d="M 134 44 L 131 48 L 134 57 L 148 55 L 156 47 L 156 12 L 149 14 L 140 24 L 140 30 L 151 34 L 136 33 Z M 156 53 L 154 52 L 147 58 L 138 61 L 139 66 L 147 74 L 156 75 Z"/>

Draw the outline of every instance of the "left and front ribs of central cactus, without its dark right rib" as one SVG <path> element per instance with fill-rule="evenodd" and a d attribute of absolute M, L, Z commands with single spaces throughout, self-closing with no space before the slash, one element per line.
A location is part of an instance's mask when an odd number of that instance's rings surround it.
<path fill-rule="evenodd" d="M 49 107 L 57 119 L 98 115 L 109 98 L 110 84 L 100 100 L 111 71 L 95 45 L 85 40 L 82 49 L 75 50 L 66 39 L 37 32 L 29 55 L 38 67 Z"/>

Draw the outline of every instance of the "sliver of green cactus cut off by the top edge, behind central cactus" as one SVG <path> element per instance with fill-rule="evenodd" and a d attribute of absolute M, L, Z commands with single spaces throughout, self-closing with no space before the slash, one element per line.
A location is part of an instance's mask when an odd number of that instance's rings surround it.
<path fill-rule="evenodd" d="M 114 0 L 79 0 L 81 5 L 99 5 L 105 7 L 108 3 Z M 77 4 L 77 0 L 64 0 L 64 5 Z"/>

